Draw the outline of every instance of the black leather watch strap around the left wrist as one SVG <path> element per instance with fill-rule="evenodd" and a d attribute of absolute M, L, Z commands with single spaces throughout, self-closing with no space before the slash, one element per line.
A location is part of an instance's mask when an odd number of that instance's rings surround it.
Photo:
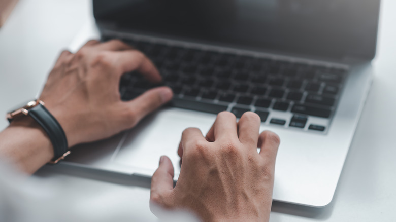
<path fill-rule="evenodd" d="M 57 163 L 63 159 L 68 152 L 68 140 L 59 122 L 42 104 L 29 109 L 28 115 L 43 127 L 48 134 L 54 148 L 54 158 L 51 163 Z"/>

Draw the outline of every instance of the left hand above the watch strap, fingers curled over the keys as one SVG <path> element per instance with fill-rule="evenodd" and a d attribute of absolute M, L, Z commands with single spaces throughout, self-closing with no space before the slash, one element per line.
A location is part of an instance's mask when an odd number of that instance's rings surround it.
<path fill-rule="evenodd" d="M 150 82 L 161 82 L 158 70 L 143 53 L 118 40 L 91 40 L 76 54 L 60 54 L 40 99 L 62 126 L 69 146 L 132 128 L 172 98 L 170 88 L 159 87 L 132 101 L 121 101 L 120 78 L 133 70 Z"/>

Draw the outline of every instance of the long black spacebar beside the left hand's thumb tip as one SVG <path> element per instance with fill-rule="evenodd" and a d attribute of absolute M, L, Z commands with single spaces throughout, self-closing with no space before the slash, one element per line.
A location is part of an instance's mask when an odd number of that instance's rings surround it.
<path fill-rule="evenodd" d="M 173 98 L 171 105 L 178 108 L 192 109 L 211 114 L 218 114 L 222 111 L 227 110 L 228 107 L 227 105 L 213 104 L 180 98 Z"/>

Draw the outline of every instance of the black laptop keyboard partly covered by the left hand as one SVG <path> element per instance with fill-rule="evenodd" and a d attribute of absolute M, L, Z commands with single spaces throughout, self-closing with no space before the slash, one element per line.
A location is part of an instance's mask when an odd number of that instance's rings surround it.
<path fill-rule="evenodd" d="M 144 52 L 157 66 L 162 85 L 174 92 L 171 106 L 213 114 L 228 110 L 238 118 L 252 111 L 270 125 L 307 131 L 326 130 L 323 121 L 315 124 L 308 120 L 324 118 L 329 123 L 347 73 L 342 68 L 301 62 L 164 43 L 125 42 Z M 126 73 L 120 82 L 121 98 L 134 99 L 156 86 L 139 73 Z M 281 113 L 291 113 L 291 118 Z"/>

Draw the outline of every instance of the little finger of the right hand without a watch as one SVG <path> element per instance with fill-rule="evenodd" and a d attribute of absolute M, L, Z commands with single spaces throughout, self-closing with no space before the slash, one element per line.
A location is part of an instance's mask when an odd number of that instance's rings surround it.
<path fill-rule="evenodd" d="M 257 146 L 261 148 L 260 156 L 266 160 L 275 169 L 275 159 L 278 153 L 280 139 L 277 134 L 271 131 L 263 131 L 258 137 Z"/>

